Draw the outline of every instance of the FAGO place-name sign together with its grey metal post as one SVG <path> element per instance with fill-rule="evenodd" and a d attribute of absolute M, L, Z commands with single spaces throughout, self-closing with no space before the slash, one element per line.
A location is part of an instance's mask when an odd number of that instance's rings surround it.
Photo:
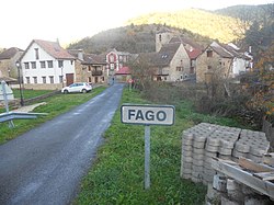
<path fill-rule="evenodd" d="M 135 105 L 121 106 L 121 122 L 145 125 L 145 189 L 150 187 L 150 125 L 173 125 L 174 106 Z"/>

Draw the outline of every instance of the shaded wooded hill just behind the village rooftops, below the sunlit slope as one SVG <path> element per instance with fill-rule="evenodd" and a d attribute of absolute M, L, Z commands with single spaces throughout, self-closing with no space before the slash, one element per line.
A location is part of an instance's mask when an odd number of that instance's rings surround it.
<path fill-rule="evenodd" d="M 70 44 L 69 49 L 84 49 L 87 53 L 103 53 L 110 48 L 116 48 L 119 52 L 129 52 L 132 54 L 155 52 L 156 33 L 162 30 L 169 30 L 179 33 L 184 37 L 193 38 L 203 45 L 207 45 L 210 39 L 193 34 L 186 30 L 173 29 L 160 24 L 148 25 L 128 25 L 101 32 L 92 37 L 85 37 L 78 43 Z"/>

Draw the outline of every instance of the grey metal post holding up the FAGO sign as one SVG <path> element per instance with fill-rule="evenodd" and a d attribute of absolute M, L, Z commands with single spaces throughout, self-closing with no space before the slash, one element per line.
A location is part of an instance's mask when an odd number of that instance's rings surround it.
<path fill-rule="evenodd" d="M 145 126 L 145 189 L 150 187 L 150 126 Z"/>

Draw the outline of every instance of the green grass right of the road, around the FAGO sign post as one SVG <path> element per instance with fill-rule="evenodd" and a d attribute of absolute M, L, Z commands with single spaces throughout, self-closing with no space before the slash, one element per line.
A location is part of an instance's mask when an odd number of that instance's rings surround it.
<path fill-rule="evenodd" d="M 122 102 L 149 103 L 127 90 Z M 206 187 L 180 178 L 181 133 L 193 122 L 176 114 L 173 126 L 151 126 L 151 186 L 145 190 L 145 128 L 122 124 L 119 117 L 117 111 L 75 204 L 203 204 Z"/>

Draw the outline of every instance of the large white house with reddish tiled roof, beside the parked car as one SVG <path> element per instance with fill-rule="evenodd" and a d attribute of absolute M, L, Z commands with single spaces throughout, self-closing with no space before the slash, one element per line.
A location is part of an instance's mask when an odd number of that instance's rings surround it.
<path fill-rule="evenodd" d="M 20 58 L 26 89 L 61 89 L 76 81 L 75 57 L 58 42 L 33 39 Z"/>

